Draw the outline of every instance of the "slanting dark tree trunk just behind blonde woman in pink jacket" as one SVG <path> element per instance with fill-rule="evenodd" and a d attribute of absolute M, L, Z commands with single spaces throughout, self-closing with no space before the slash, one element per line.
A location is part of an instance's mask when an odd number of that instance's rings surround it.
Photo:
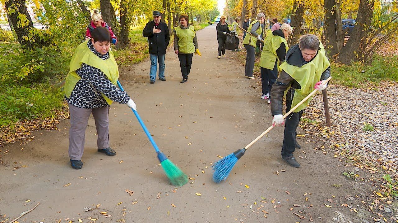
<path fill-rule="evenodd" d="M 124 42 L 124 39 L 121 38 L 120 35 L 120 27 L 119 24 L 117 24 L 116 21 L 116 16 L 115 16 L 115 10 L 113 9 L 113 6 L 111 4 L 110 0 L 100 0 L 101 3 L 101 15 L 103 21 L 108 23 L 108 25 L 111 26 L 113 33 L 115 33 L 115 36 L 117 38 L 117 44 L 115 45 L 117 49 L 123 49 L 126 48 L 126 44 Z"/>

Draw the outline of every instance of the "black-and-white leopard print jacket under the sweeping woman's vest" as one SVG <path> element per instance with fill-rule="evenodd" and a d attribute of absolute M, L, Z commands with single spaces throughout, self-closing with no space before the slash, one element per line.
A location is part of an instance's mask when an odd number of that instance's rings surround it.
<path fill-rule="evenodd" d="M 105 55 L 100 54 L 94 49 L 91 41 L 88 41 L 87 46 L 91 52 L 102 60 L 109 59 L 109 52 Z M 76 73 L 81 79 L 76 83 L 70 97 L 67 98 L 65 96 L 69 104 L 78 108 L 103 108 L 108 106 L 108 103 L 101 93 L 120 104 L 127 104 L 130 100 L 129 95 L 113 85 L 100 69 L 82 63 L 82 66 L 76 70 Z"/>

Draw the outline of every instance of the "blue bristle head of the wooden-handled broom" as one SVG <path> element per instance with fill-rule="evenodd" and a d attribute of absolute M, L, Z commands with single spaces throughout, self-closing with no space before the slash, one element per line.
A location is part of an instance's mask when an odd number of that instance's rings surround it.
<path fill-rule="evenodd" d="M 236 150 L 235 152 L 214 163 L 212 167 L 214 171 L 213 181 L 215 183 L 224 181 L 228 177 L 232 168 L 234 168 L 235 163 L 243 156 L 243 154 L 245 154 L 245 151 L 245 148 Z"/>

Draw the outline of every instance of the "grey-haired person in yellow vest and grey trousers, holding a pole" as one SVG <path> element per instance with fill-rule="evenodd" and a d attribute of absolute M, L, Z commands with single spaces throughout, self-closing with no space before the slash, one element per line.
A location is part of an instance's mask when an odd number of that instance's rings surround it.
<path fill-rule="evenodd" d="M 264 22 L 265 15 L 264 13 L 258 13 L 256 20 L 253 20 L 250 25 L 248 31 L 254 35 L 246 35 L 243 40 L 243 46 L 246 48 L 246 65 L 245 65 L 245 77 L 248 79 L 256 79 L 253 77 L 253 69 L 254 69 L 254 56 L 256 54 L 256 43 L 257 40 L 261 41 L 261 33 L 263 32 L 263 28 L 261 27 L 261 23 Z"/>

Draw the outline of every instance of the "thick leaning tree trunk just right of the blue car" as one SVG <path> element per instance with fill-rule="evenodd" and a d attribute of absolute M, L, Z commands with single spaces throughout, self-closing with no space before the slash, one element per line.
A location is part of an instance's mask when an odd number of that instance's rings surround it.
<path fill-rule="evenodd" d="M 356 23 L 347 43 L 341 49 L 338 60 L 349 64 L 353 60 L 362 60 L 363 48 L 365 48 L 369 27 L 373 18 L 375 0 L 361 0 L 359 2 Z"/>

